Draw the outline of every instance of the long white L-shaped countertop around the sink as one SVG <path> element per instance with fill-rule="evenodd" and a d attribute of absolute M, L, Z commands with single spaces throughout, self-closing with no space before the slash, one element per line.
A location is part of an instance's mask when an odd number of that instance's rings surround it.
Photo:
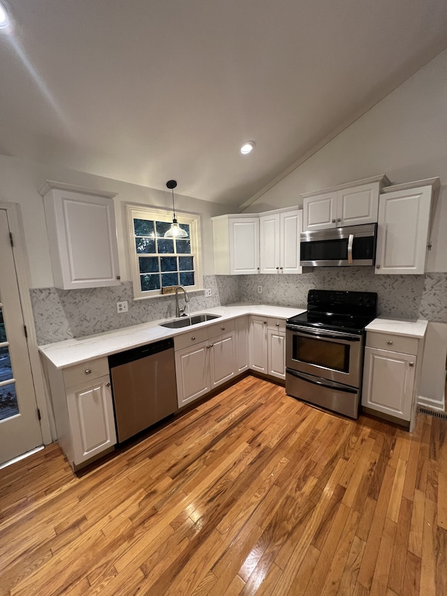
<path fill-rule="evenodd" d="M 259 314 L 263 317 L 288 319 L 288 317 L 293 317 L 295 314 L 305 312 L 305 310 L 305 308 L 288 308 L 282 306 L 241 303 L 237 305 L 207 308 L 206 310 L 200 310 L 191 314 L 200 314 L 202 312 L 219 314 L 221 317 L 218 319 L 219 321 L 235 319 L 236 317 L 242 317 L 244 314 Z M 119 351 L 150 344 L 157 340 L 164 340 L 167 337 L 175 337 L 175 335 L 186 333 L 191 330 L 191 327 L 170 329 L 159 326 L 159 323 L 166 320 L 168 319 L 159 319 L 158 321 L 150 321 L 149 323 L 142 323 L 132 327 L 124 327 L 105 333 L 98 333 L 97 335 L 89 335 L 78 339 L 65 340 L 64 342 L 46 344 L 44 346 L 39 346 L 39 350 L 56 368 L 67 368 L 68 366 L 88 362 L 93 358 L 101 358 L 103 356 L 109 356 L 110 354 L 117 354 Z M 193 327 L 204 327 L 213 322 L 218 322 L 218 320 L 205 321 L 205 323 L 199 323 Z"/>

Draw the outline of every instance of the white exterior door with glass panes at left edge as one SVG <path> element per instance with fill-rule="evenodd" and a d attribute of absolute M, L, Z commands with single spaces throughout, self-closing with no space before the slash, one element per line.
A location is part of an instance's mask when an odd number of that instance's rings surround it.
<path fill-rule="evenodd" d="M 0 209 L 0 463 L 41 445 L 6 210 Z"/>

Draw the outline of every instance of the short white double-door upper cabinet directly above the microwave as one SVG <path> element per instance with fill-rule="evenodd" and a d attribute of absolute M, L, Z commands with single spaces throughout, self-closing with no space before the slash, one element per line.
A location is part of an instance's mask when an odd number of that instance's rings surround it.
<path fill-rule="evenodd" d="M 387 184 L 390 181 L 383 175 L 302 194 L 303 229 L 312 231 L 374 224 L 379 194 Z"/>

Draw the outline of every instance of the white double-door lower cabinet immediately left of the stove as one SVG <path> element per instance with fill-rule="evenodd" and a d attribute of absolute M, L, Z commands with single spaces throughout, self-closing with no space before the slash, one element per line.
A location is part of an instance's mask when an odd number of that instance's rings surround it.
<path fill-rule="evenodd" d="M 286 321 L 250 317 L 250 368 L 264 375 L 286 378 Z"/>

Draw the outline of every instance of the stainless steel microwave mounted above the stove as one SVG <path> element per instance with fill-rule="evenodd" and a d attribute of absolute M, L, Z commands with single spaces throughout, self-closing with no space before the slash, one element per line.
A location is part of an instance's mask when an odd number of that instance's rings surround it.
<path fill-rule="evenodd" d="M 374 265 L 377 224 L 302 232 L 300 266 L 346 267 Z"/>

